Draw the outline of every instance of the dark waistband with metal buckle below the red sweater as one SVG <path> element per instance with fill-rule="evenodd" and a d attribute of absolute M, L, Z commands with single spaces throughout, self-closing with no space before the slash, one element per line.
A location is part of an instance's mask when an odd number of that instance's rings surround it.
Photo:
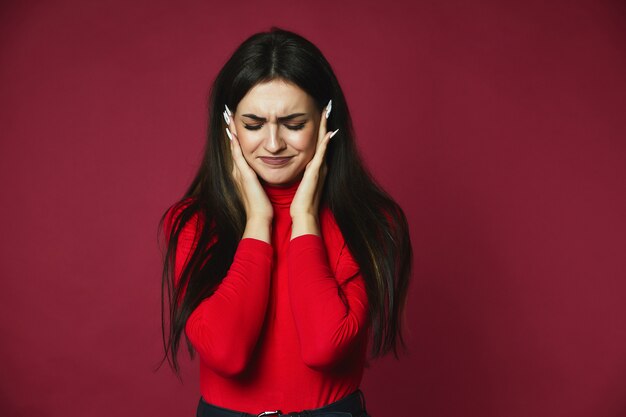
<path fill-rule="evenodd" d="M 280 410 L 267 410 L 259 414 L 244 413 L 241 411 L 230 410 L 228 408 L 218 407 L 204 401 L 200 397 L 196 417 L 274 417 L 274 416 L 290 416 L 290 417 L 347 417 L 345 413 L 350 413 L 352 417 L 360 417 L 366 415 L 365 397 L 360 389 L 340 400 L 330 403 L 320 408 L 311 408 L 298 412 L 283 414 Z"/>

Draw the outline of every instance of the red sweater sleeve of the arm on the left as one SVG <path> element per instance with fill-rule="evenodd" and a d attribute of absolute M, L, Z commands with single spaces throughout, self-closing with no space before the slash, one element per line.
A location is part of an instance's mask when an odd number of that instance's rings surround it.
<path fill-rule="evenodd" d="M 180 234 L 176 277 L 195 248 L 196 227 L 192 223 Z M 187 338 L 200 359 L 221 376 L 242 372 L 254 350 L 268 303 L 272 256 L 269 243 L 242 239 L 222 282 L 187 319 Z"/>

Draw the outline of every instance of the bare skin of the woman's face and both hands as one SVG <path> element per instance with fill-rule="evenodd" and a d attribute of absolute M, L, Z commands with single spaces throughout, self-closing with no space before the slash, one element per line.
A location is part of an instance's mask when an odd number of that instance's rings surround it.
<path fill-rule="evenodd" d="M 229 118 L 232 175 L 246 210 L 243 238 L 270 243 L 273 208 L 261 182 L 287 186 L 301 180 L 289 213 L 291 239 L 304 234 L 320 236 L 319 201 L 328 171 L 324 162 L 330 135 L 326 117 L 318 112 L 311 96 L 298 86 L 282 80 L 259 84 L 244 96 Z M 290 120 L 279 117 L 304 113 Z M 244 116 L 253 114 L 265 121 Z M 302 129 L 291 130 L 303 125 Z M 249 130 L 250 127 L 258 130 Z M 271 166 L 260 157 L 291 157 L 281 166 Z"/>

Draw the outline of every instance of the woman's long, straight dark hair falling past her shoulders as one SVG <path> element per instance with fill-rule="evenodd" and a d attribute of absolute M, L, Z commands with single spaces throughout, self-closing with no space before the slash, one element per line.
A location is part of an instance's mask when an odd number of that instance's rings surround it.
<path fill-rule="evenodd" d="M 275 79 L 307 92 L 320 112 L 332 99 L 327 129 L 339 128 L 340 137 L 328 144 L 328 173 L 320 205 L 331 210 L 365 279 L 372 356 L 393 350 L 397 358 L 399 344 L 406 348 L 402 321 L 413 257 L 406 217 L 364 166 L 354 143 L 345 97 L 328 61 L 302 36 L 272 27 L 246 39 L 217 75 L 209 94 L 202 164 L 184 196 L 159 222 L 159 231 L 166 230 L 167 240 L 161 285 L 165 349 L 161 364 L 167 358 L 177 374 L 179 341 L 187 318 L 226 275 L 246 224 L 245 209 L 230 174 L 224 104 L 236 109 L 252 87 Z M 180 277 L 175 277 L 178 238 L 193 218 L 202 219 L 203 227 L 197 229 L 196 249 Z M 187 348 L 193 358 L 189 341 Z"/>

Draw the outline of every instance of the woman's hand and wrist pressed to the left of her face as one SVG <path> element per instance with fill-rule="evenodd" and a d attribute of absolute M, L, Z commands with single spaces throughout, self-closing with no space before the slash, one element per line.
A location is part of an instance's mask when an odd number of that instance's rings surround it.
<path fill-rule="evenodd" d="M 272 203 L 259 182 L 256 172 L 248 165 L 248 161 L 243 156 L 233 117 L 234 115 L 228 117 L 229 123 L 226 127 L 226 130 L 230 132 L 232 137 L 230 141 L 230 151 L 233 160 L 232 176 L 246 209 L 247 222 L 271 223 L 274 216 Z"/>

